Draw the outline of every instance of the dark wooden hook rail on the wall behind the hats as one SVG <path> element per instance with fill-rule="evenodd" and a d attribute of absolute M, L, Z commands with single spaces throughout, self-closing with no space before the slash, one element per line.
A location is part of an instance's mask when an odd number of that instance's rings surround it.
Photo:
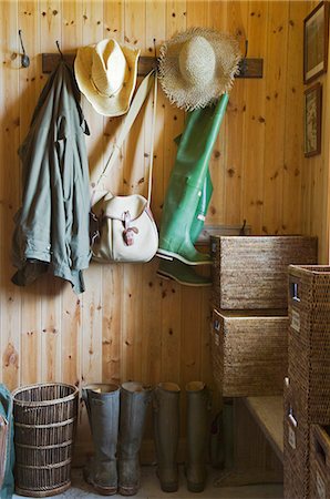
<path fill-rule="evenodd" d="M 64 53 L 63 59 L 68 64 L 73 64 L 75 53 Z M 42 72 L 51 73 L 59 64 L 61 55 L 59 53 L 42 53 Z M 155 57 L 142 55 L 138 58 L 137 74 L 145 77 L 152 69 L 157 67 Z M 243 59 L 240 73 L 236 78 L 262 78 L 264 59 Z"/>

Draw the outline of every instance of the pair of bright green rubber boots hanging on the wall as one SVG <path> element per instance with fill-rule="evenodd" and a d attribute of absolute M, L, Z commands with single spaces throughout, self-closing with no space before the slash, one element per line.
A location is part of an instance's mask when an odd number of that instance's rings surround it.
<path fill-rule="evenodd" d="M 177 140 L 176 161 L 164 201 L 157 251 L 164 261 L 158 275 L 190 286 L 210 284 L 189 266 L 212 263 L 210 256 L 197 252 L 194 244 L 213 193 L 208 164 L 227 103 L 225 93 L 216 105 L 188 113 L 185 130 Z"/>

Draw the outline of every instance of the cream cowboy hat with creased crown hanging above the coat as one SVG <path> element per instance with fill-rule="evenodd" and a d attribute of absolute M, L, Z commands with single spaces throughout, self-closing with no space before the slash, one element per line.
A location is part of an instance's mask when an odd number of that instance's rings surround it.
<path fill-rule="evenodd" d="M 74 73 L 81 92 L 97 113 L 120 116 L 128 111 L 137 77 L 140 50 L 114 39 L 78 49 Z"/>

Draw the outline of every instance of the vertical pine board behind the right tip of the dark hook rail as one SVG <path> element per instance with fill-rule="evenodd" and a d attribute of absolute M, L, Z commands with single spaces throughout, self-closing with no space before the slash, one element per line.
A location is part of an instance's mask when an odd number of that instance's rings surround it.
<path fill-rule="evenodd" d="M 268 8 L 270 2 L 250 1 L 248 12 L 249 53 L 256 58 L 266 58 L 268 34 Z M 246 121 L 243 141 L 243 217 L 251 225 L 252 234 L 261 234 L 264 200 L 265 161 L 265 112 L 266 81 L 246 82 Z"/>

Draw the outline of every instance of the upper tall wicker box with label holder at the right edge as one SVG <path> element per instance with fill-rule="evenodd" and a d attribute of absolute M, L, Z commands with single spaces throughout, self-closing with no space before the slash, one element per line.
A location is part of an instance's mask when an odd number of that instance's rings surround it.
<path fill-rule="evenodd" d="M 305 420 L 330 422 L 330 266 L 289 267 L 288 373 Z"/>

